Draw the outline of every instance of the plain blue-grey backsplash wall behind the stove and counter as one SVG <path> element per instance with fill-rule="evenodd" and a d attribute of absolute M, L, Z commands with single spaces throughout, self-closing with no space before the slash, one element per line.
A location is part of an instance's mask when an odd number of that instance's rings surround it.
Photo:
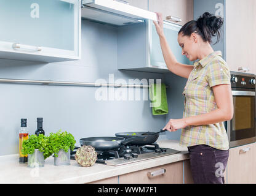
<path fill-rule="evenodd" d="M 166 85 L 170 115 L 153 116 L 150 100 L 96 100 L 98 88 L 81 86 L 18 85 L 0 83 L 0 156 L 18 153 L 20 119 L 28 119 L 28 130 L 34 134 L 36 118 L 44 118 L 46 134 L 66 130 L 79 138 L 114 136 L 124 131 L 159 131 L 170 116 L 182 117 L 182 90 L 173 75 L 118 70 L 117 29 L 82 21 L 82 59 L 80 61 L 44 64 L 30 61 L 0 59 L 0 78 L 28 80 L 108 82 L 110 74 L 119 78 L 159 79 Z M 116 89 L 114 89 L 116 90 Z M 178 104 L 174 104 L 177 100 Z M 175 114 L 175 115 L 172 115 Z M 179 132 L 161 135 L 161 139 L 177 139 Z"/>

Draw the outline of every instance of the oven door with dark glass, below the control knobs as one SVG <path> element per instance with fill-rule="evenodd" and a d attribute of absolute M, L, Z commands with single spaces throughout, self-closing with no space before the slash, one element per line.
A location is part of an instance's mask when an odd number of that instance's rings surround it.
<path fill-rule="evenodd" d="M 230 147 L 256 141 L 255 91 L 232 91 L 234 116 L 227 122 Z"/>

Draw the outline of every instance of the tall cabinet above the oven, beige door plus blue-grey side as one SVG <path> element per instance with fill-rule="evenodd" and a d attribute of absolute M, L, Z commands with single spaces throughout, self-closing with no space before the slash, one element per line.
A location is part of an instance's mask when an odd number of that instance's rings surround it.
<path fill-rule="evenodd" d="M 222 51 L 231 71 L 256 74 L 255 10 L 255 0 L 194 0 L 195 19 L 204 12 L 224 18 L 222 40 L 212 47 Z"/>

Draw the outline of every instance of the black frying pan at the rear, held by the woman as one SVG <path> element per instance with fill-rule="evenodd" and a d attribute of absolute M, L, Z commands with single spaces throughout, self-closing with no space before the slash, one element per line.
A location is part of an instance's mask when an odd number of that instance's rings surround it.
<path fill-rule="evenodd" d="M 145 135 L 143 135 L 145 134 Z M 129 145 L 150 145 L 151 143 L 154 143 L 156 140 L 158 140 L 159 133 L 155 132 L 121 132 L 121 133 L 116 133 L 116 137 L 123 137 L 126 139 L 130 138 L 137 138 L 135 139 L 130 139 Z M 123 141 L 123 143 L 127 143 L 127 141 Z M 126 145 L 126 144 L 124 144 Z"/>

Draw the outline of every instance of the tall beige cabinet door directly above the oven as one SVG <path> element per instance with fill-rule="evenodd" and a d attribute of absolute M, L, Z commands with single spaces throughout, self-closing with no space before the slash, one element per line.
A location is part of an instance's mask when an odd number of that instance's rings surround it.
<path fill-rule="evenodd" d="M 255 4 L 255 0 L 226 0 L 226 62 L 233 71 L 247 67 L 256 74 Z"/>

